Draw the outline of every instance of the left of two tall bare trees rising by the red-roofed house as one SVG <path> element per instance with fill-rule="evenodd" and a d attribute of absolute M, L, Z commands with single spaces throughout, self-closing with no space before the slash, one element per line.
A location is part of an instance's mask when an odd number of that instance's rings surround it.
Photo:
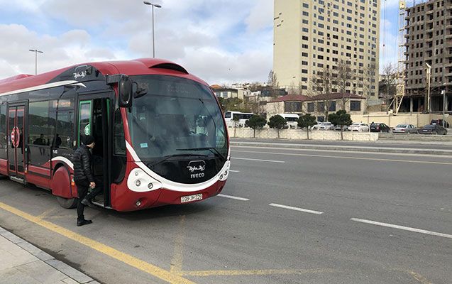
<path fill-rule="evenodd" d="M 312 76 L 312 80 L 309 83 L 313 96 L 321 96 L 323 107 L 320 107 L 319 111 L 323 111 L 325 114 L 325 121 L 328 121 L 329 109 L 333 102 L 332 89 L 334 87 L 334 72 L 324 67 L 321 71 L 317 71 Z"/>

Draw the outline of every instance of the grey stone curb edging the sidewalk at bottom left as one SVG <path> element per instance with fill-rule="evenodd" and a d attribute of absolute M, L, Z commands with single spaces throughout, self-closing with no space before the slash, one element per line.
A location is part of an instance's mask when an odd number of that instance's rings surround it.
<path fill-rule="evenodd" d="M 71 278 L 76 283 L 100 284 L 99 282 L 89 277 L 88 275 L 80 271 L 77 271 L 77 269 L 72 268 L 71 266 L 67 265 L 62 261 L 57 260 L 53 256 L 50 256 L 50 254 L 45 253 L 45 251 L 42 251 L 38 249 L 36 246 L 33 246 L 33 244 L 28 243 L 28 241 L 19 238 L 10 231 L 7 231 L 6 229 L 3 229 L 1 226 L 0 226 L 0 236 L 3 236 L 5 239 L 8 239 L 13 244 L 20 246 L 21 249 L 23 249 L 24 251 L 28 251 L 28 253 L 31 253 L 40 261 L 47 263 L 49 266 L 52 266 L 53 268 L 55 268 L 55 270 L 60 271 L 61 273 L 67 275 L 67 277 Z"/>

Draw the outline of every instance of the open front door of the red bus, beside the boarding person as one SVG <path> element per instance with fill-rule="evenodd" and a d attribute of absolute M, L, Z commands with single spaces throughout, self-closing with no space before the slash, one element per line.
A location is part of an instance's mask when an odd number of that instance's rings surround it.
<path fill-rule="evenodd" d="M 78 145 L 86 135 L 94 136 L 96 146 L 92 150 L 92 170 L 97 187 L 104 188 L 104 195 L 99 195 L 94 203 L 110 207 L 111 184 L 111 99 L 106 97 L 93 97 L 88 99 L 80 96 L 79 116 L 77 123 Z"/>

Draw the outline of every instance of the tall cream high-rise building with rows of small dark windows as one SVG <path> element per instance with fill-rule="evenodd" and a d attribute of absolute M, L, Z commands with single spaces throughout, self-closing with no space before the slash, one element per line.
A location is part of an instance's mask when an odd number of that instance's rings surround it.
<path fill-rule="evenodd" d="M 380 0 L 275 0 L 273 72 L 280 87 L 312 92 L 312 80 L 338 62 L 351 68 L 346 89 L 378 98 Z M 319 90 L 316 90 L 319 91 Z"/>

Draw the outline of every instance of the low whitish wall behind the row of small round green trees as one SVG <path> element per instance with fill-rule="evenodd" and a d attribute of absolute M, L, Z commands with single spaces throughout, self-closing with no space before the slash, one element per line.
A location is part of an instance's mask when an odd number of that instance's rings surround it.
<path fill-rule="evenodd" d="M 229 137 L 233 138 L 262 138 L 277 139 L 278 131 L 276 129 L 256 129 L 253 136 L 253 129 L 250 128 L 228 128 Z M 281 139 L 289 140 L 307 140 L 306 129 L 282 129 L 280 130 Z M 312 140 L 341 140 L 341 131 L 309 131 L 309 139 Z M 343 131 L 343 140 L 348 141 L 377 141 L 378 133 L 369 132 L 350 132 Z"/>

